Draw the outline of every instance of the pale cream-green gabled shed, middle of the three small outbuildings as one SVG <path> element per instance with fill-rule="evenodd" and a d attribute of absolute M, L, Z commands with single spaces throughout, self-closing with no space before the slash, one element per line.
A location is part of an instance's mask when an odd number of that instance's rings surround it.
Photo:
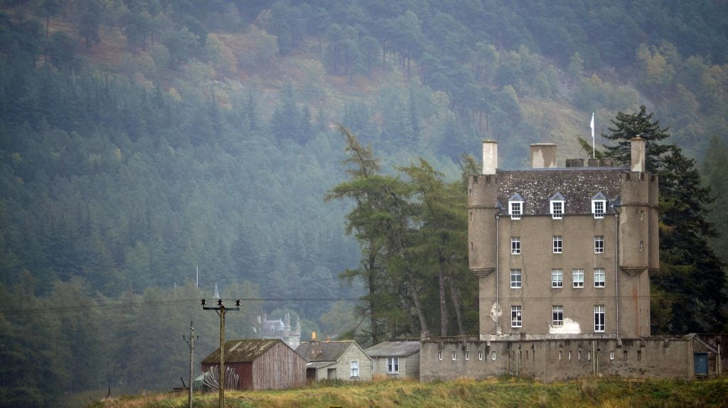
<path fill-rule="evenodd" d="M 304 341 L 296 353 L 310 380 L 371 381 L 371 357 L 353 340 Z"/>

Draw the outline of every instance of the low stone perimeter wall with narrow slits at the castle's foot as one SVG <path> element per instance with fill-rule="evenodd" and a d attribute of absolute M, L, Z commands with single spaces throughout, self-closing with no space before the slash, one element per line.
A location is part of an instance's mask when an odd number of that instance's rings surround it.
<path fill-rule="evenodd" d="M 707 357 L 708 375 L 721 374 L 727 342 L 728 335 L 435 338 L 422 342 L 420 380 L 507 374 L 547 382 L 582 375 L 689 379 L 696 377 L 696 354 Z"/>

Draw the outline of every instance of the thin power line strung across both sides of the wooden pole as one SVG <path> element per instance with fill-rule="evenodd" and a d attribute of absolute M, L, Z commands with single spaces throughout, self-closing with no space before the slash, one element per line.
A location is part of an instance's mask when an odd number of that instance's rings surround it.
<path fill-rule="evenodd" d="M 237 299 L 237 298 L 236 298 Z M 234 299 L 223 299 L 234 300 Z M 240 301 L 248 302 L 323 302 L 323 301 L 360 301 L 360 298 L 240 298 Z M 178 299 L 174 301 L 154 301 L 154 302 L 133 302 L 133 303 L 111 303 L 106 305 L 87 305 L 87 306 L 58 306 L 58 307 L 39 307 L 31 309 L 7 309 L 0 310 L 0 315 L 16 316 L 44 313 L 65 313 L 75 311 L 95 311 L 95 310 L 114 310 L 114 309 L 131 309 L 135 307 L 153 307 L 153 306 L 179 306 L 185 304 L 196 304 L 199 299 Z"/>

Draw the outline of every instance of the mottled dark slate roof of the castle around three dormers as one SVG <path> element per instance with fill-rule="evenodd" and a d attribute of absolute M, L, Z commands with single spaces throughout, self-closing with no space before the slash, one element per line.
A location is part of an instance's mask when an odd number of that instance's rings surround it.
<path fill-rule="evenodd" d="M 625 171 L 628 168 L 498 169 L 498 200 L 508 203 L 518 194 L 523 197 L 523 216 L 549 215 L 549 199 L 560 193 L 566 200 L 565 215 L 590 214 L 591 198 L 601 192 L 609 200 L 606 213 L 613 214 L 612 204 L 620 195 L 621 174 Z"/>

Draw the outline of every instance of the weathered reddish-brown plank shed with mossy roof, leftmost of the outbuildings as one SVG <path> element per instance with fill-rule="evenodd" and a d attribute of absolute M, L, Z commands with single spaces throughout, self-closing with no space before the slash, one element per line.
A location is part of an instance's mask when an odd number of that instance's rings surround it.
<path fill-rule="evenodd" d="M 239 375 L 234 389 L 273 390 L 306 384 L 306 360 L 280 339 L 228 340 L 225 367 Z M 202 360 L 202 371 L 218 370 L 220 348 Z"/>

